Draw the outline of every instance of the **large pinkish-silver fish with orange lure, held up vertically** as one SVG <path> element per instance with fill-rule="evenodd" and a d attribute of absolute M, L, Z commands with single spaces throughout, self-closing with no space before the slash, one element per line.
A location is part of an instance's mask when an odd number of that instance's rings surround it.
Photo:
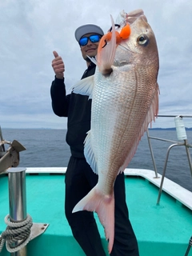
<path fill-rule="evenodd" d="M 158 46 L 143 10 L 122 10 L 99 42 L 91 60 L 95 74 L 74 85 L 76 94 L 92 99 L 86 162 L 98 183 L 74 212 L 97 212 L 109 253 L 114 245 L 114 182 L 129 165 L 142 135 L 158 116 Z M 133 195 L 134 196 L 134 195 Z"/>

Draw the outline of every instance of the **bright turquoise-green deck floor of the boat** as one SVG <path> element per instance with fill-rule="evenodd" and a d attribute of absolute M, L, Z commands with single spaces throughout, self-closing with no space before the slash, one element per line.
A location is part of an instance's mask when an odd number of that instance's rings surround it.
<path fill-rule="evenodd" d="M 26 175 L 27 212 L 34 222 L 50 224 L 44 234 L 28 244 L 28 256 L 85 255 L 75 242 L 64 215 L 64 178 L 63 174 Z M 0 176 L 0 191 L 1 234 L 6 229 L 4 218 L 9 213 L 8 178 L 5 175 Z M 156 206 L 157 197 L 158 188 L 146 179 L 126 178 L 126 201 L 140 256 L 184 256 L 192 235 L 192 211 L 166 194 L 162 194 L 160 206 Z M 98 227 L 107 251 L 99 222 Z M 1 255 L 10 255 L 5 246 Z"/>

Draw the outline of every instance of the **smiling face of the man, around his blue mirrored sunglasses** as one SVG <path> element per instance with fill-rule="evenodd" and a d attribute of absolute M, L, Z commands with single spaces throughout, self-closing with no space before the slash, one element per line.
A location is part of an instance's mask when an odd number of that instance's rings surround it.
<path fill-rule="evenodd" d="M 93 33 L 84 34 L 82 38 L 84 37 L 90 37 L 90 35 L 93 35 Z M 86 46 L 80 46 L 82 51 L 82 58 L 86 60 L 86 62 L 90 62 L 90 59 L 87 57 L 95 57 L 98 53 L 98 43 L 99 42 L 91 42 L 88 40 Z"/>

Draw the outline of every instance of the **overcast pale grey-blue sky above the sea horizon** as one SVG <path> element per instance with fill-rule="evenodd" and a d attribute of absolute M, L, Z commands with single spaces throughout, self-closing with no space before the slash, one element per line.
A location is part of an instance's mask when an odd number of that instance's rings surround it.
<path fill-rule="evenodd" d="M 144 10 L 158 42 L 159 114 L 191 115 L 191 0 L 0 0 L 0 126 L 65 128 L 66 118 L 51 108 L 53 50 L 65 62 L 69 90 L 86 69 L 74 30 L 94 23 L 106 33 L 110 14 L 116 19 L 121 10 L 135 9 Z M 158 118 L 156 126 L 174 122 Z"/>

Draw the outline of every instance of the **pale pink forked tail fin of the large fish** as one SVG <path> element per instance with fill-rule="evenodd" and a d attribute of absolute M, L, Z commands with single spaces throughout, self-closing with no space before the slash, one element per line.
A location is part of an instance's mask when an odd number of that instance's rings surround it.
<path fill-rule="evenodd" d="M 114 245 L 114 194 L 110 196 L 103 195 L 97 186 L 94 186 L 86 197 L 82 198 L 76 206 L 73 213 L 79 210 L 95 211 L 98 218 L 104 226 L 106 240 L 109 241 L 108 250 L 111 252 Z"/>

